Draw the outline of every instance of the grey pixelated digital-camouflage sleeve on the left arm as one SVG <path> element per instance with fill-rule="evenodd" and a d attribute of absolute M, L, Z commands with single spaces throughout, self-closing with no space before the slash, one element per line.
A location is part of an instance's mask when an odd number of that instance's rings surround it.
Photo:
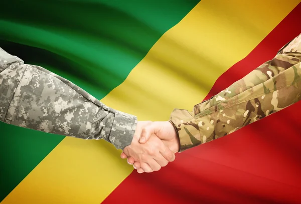
<path fill-rule="evenodd" d="M 70 81 L 0 48 L 0 121 L 117 149 L 132 141 L 137 119 L 115 111 Z"/>

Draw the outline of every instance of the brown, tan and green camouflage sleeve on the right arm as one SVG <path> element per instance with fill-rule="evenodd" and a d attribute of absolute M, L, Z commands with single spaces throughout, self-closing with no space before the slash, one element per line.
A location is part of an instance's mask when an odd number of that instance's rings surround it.
<path fill-rule="evenodd" d="M 194 106 L 175 109 L 174 124 L 184 151 L 228 135 L 301 99 L 301 35 L 284 46 L 274 59 L 241 80 Z"/>

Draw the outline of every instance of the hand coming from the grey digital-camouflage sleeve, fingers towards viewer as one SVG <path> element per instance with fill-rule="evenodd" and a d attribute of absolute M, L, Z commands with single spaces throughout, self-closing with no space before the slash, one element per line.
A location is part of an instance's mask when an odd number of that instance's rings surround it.
<path fill-rule="evenodd" d="M 139 162 L 139 167 L 145 172 L 158 171 L 162 166 L 166 166 L 169 161 L 175 159 L 174 153 L 154 134 L 145 135 L 144 144 L 139 143 L 142 129 L 150 124 L 152 124 L 150 121 L 137 123 L 133 140 L 129 146 L 124 148 L 122 153 L 123 158 L 130 156 L 132 160 Z M 130 162 L 128 161 L 128 163 Z"/>

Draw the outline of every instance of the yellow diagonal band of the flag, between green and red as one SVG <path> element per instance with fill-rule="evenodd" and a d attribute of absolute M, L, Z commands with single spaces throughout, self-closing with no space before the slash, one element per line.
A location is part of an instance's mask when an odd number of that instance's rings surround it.
<path fill-rule="evenodd" d="M 102 102 L 139 120 L 191 110 L 299 2 L 202 0 Z M 100 203 L 132 171 L 119 154 L 104 141 L 66 137 L 2 203 Z"/>

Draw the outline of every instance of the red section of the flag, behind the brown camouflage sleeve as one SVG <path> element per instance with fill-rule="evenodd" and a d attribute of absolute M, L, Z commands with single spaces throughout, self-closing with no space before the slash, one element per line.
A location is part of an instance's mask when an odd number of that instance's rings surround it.
<path fill-rule="evenodd" d="M 301 4 L 243 60 L 222 74 L 207 99 L 301 33 Z M 102 203 L 300 203 L 301 103 L 230 136 L 177 154 L 158 172 L 133 171 Z"/>

